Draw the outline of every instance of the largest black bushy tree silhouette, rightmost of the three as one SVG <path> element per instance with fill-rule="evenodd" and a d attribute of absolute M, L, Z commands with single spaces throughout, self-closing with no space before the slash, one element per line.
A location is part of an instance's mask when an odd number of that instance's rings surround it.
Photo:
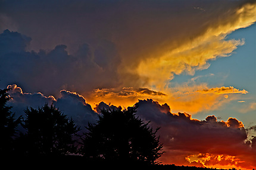
<path fill-rule="evenodd" d="M 153 131 L 135 113 L 136 107 L 101 110 L 97 123 L 86 127 L 80 153 L 91 160 L 157 163 L 163 154 L 159 128 Z"/>

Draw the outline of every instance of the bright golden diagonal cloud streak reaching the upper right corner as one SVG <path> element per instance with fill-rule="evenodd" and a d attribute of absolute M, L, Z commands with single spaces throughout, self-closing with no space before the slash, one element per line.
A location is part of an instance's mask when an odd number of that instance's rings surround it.
<path fill-rule="evenodd" d="M 254 24 L 255 21 L 255 3 L 248 3 L 241 7 L 230 9 L 225 11 L 221 20 L 213 18 L 212 23 L 205 24 L 206 26 L 201 30 L 198 29 L 200 32 L 183 37 L 180 40 L 166 41 L 157 50 L 145 52 L 146 57 L 142 57 L 143 54 L 141 54 L 142 56 L 136 59 L 138 65 L 129 65 L 128 68 L 127 63 L 129 61 L 125 60 L 126 66 L 122 65 L 120 68 L 122 71 L 120 72 L 123 73 L 123 69 L 127 69 L 127 72 L 140 78 L 141 85 L 147 84 L 163 90 L 174 75 L 179 75 L 183 72 L 193 75 L 196 70 L 207 69 L 210 66 L 208 61 L 216 60 L 217 57 L 230 56 L 245 41 L 227 40 L 227 34 L 239 28 L 248 27 Z M 124 79 L 126 78 L 135 77 L 124 77 Z M 124 82 L 129 84 L 130 81 L 126 80 Z M 132 83 L 134 84 L 134 79 Z"/>

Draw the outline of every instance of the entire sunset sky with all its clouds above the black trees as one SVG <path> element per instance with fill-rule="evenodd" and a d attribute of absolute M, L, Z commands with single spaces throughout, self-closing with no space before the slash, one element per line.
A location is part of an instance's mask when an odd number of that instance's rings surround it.
<path fill-rule="evenodd" d="M 255 21 L 256 1 L 1 0 L 0 88 L 81 127 L 138 105 L 159 161 L 255 169 Z"/>

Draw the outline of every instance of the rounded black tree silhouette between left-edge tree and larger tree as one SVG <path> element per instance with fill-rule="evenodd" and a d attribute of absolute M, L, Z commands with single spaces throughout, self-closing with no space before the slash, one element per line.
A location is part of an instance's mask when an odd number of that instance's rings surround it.
<path fill-rule="evenodd" d="M 27 143 L 24 152 L 28 155 L 51 156 L 76 152 L 74 136 L 77 136 L 80 128 L 54 105 L 49 107 L 45 104 L 38 110 L 27 108 L 25 115 L 23 127 L 27 133 L 21 138 L 23 143 Z"/>

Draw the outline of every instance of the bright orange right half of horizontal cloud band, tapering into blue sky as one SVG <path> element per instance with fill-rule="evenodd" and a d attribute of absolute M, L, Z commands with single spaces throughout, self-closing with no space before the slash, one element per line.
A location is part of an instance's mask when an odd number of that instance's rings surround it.
<path fill-rule="evenodd" d="M 245 89 L 236 89 L 233 86 L 208 88 L 207 84 L 180 84 L 173 87 L 168 95 L 168 104 L 174 111 L 186 111 L 191 114 L 200 111 L 218 110 L 230 101 L 238 100 L 241 95 L 247 94 Z"/>

